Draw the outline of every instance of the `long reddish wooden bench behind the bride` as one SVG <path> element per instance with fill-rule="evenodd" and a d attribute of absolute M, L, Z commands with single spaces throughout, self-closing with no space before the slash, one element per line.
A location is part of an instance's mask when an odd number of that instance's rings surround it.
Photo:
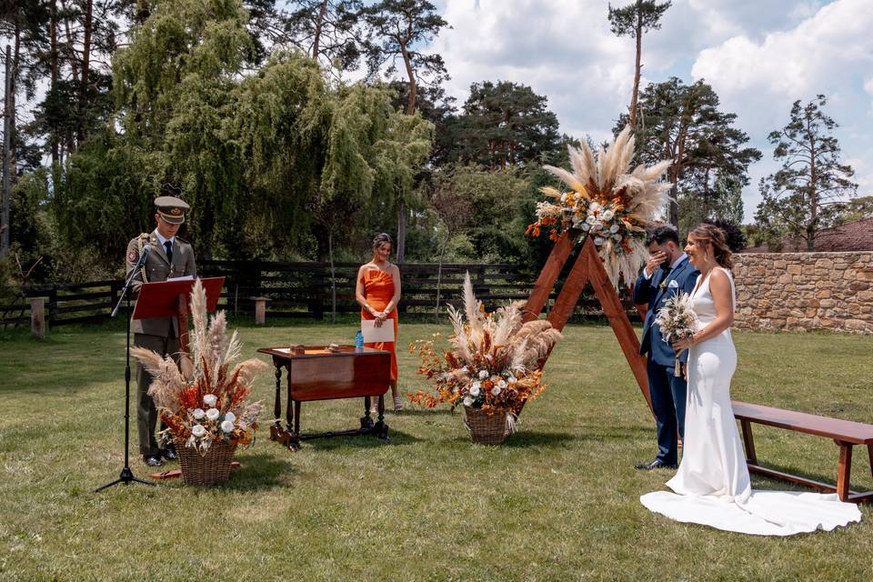
<path fill-rule="evenodd" d="M 836 492 L 841 501 L 852 501 L 855 503 L 873 501 L 873 491 L 857 493 L 848 488 L 848 481 L 852 472 L 852 447 L 855 445 L 867 445 L 870 470 L 873 472 L 873 425 L 865 425 L 850 420 L 839 420 L 838 418 L 828 418 L 828 416 L 809 415 L 803 412 L 782 410 L 781 408 L 772 408 L 770 406 L 758 406 L 736 400 L 732 404 L 734 416 L 737 417 L 742 427 L 743 443 L 746 447 L 746 460 L 750 472 L 798 483 L 799 485 L 812 487 L 825 493 Z M 818 435 L 819 437 L 834 439 L 834 442 L 839 447 L 837 487 L 759 466 L 758 457 L 755 454 L 755 441 L 752 439 L 753 422 L 760 425 L 778 426 L 779 428 L 788 428 L 788 430 L 796 430 L 808 435 Z"/>

